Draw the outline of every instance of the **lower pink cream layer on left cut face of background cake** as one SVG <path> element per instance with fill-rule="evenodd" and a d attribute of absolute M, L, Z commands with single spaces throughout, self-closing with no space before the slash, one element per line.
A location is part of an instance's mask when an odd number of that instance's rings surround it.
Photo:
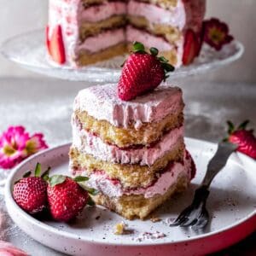
<path fill-rule="evenodd" d="M 96 36 L 86 38 L 83 44 L 79 44 L 76 51 L 79 52 L 81 50 L 85 50 L 90 53 L 96 53 L 122 42 L 125 42 L 124 28 L 108 30 L 97 34 Z"/>

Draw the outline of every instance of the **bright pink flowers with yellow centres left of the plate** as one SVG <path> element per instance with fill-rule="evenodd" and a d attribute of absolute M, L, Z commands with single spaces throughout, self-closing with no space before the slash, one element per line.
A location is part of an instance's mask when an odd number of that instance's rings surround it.
<path fill-rule="evenodd" d="M 0 136 L 0 167 L 12 168 L 26 157 L 48 148 L 43 137 L 41 133 L 30 137 L 23 126 L 10 126 Z"/>

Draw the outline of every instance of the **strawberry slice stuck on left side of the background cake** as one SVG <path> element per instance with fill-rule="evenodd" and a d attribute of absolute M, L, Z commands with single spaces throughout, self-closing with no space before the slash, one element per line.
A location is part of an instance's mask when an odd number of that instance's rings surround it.
<path fill-rule="evenodd" d="M 63 64 L 66 62 L 61 25 L 57 25 L 53 28 L 50 38 L 49 38 L 49 26 L 46 27 L 46 46 L 47 46 L 49 55 L 51 55 L 52 59 L 55 62 L 59 64 Z"/>

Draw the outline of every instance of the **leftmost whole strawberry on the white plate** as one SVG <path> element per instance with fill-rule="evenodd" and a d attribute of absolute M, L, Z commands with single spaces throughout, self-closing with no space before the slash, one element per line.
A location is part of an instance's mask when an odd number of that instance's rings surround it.
<path fill-rule="evenodd" d="M 35 177 L 30 177 L 31 172 L 26 172 L 23 178 L 15 183 L 13 196 L 15 202 L 30 214 L 38 213 L 47 207 L 47 183 L 44 177 L 49 170 L 40 177 L 41 166 L 35 169 Z"/>

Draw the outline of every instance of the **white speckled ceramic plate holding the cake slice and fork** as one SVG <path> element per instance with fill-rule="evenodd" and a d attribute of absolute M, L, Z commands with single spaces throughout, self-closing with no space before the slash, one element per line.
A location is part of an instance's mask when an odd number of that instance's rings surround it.
<path fill-rule="evenodd" d="M 207 162 L 217 146 L 195 139 L 186 139 L 187 147 L 195 159 L 196 177 L 189 190 L 176 195 L 160 207 L 155 215 L 162 221 L 126 221 L 133 234 L 113 235 L 113 226 L 123 220 L 119 215 L 102 207 L 85 207 L 83 214 L 73 224 L 53 221 L 38 221 L 15 204 L 11 191 L 13 184 L 37 162 L 44 167 L 51 166 L 52 173 L 68 173 L 68 148 L 63 145 L 36 154 L 24 161 L 11 173 L 6 184 L 6 204 L 15 223 L 29 236 L 48 247 L 72 255 L 200 255 L 228 247 L 256 230 L 256 164 L 254 160 L 237 160 L 230 157 L 227 166 L 213 180 L 207 208 L 212 222 L 206 230 L 195 232 L 191 229 L 169 227 L 167 218 L 176 218 L 186 207 L 196 186 L 206 171 Z M 166 237 L 156 240 L 137 241 L 144 231 L 160 231 Z"/>

